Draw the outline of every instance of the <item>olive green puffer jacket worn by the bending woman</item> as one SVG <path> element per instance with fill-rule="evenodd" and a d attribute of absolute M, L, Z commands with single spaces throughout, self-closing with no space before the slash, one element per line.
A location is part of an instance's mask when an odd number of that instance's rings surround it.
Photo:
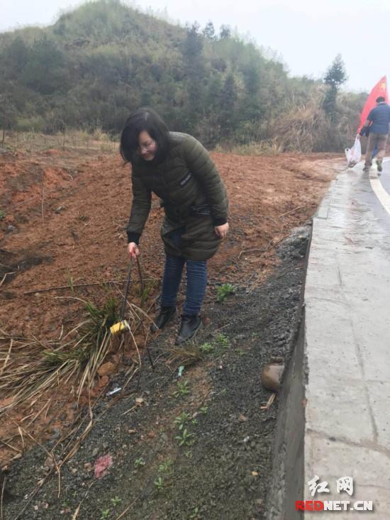
<path fill-rule="evenodd" d="M 169 134 L 169 152 L 159 164 L 137 156 L 133 161 L 133 205 L 128 241 L 138 243 L 150 211 L 151 194 L 162 200 L 162 240 L 169 255 L 208 260 L 221 242 L 214 226 L 228 220 L 228 195 L 216 166 L 198 140 L 185 133 Z M 179 247 L 169 234 L 184 228 Z"/>

